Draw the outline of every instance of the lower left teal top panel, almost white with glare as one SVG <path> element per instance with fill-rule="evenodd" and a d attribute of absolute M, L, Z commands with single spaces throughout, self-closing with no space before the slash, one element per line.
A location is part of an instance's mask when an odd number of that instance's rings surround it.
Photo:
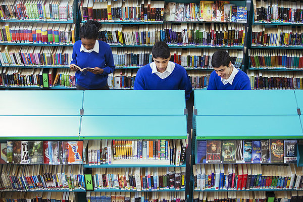
<path fill-rule="evenodd" d="M 0 139 L 79 139 L 80 116 L 0 116 Z"/>

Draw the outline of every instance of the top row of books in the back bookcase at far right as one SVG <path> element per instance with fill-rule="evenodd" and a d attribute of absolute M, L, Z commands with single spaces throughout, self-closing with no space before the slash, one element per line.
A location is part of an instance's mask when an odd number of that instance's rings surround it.
<path fill-rule="evenodd" d="M 255 22 L 303 23 L 301 2 L 292 1 L 252 1 L 254 3 Z"/>

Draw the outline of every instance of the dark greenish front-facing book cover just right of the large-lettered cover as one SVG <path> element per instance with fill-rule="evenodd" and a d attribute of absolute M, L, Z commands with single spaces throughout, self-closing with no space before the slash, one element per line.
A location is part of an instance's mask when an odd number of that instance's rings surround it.
<path fill-rule="evenodd" d="M 29 164 L 43 164 L 43 141 L 28 142 Z"/>

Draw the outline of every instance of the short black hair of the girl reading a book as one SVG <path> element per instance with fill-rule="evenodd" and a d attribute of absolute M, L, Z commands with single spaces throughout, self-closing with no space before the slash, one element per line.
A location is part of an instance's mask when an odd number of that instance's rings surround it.
<path fill-rule="evenodd" d="M 94 20 L 87 20 L 84 25 L 80 27 L 80 38 L 97 39 L 101 24 Z"/>

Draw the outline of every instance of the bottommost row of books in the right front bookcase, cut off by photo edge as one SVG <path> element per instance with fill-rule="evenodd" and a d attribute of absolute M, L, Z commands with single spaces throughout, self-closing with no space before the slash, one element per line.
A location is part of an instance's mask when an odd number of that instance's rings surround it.
<path fill-rule="evenodd" d="M 215 202 L 215 201 L 245 201 L 245 202 L 299 202 L 303 200 L 303 191 L 195 191 L 193 193 L 193 202 Z"/>

